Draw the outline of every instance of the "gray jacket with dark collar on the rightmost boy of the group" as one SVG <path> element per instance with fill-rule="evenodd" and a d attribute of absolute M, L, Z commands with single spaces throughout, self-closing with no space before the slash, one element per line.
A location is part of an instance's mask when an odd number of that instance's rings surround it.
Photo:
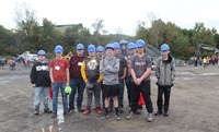
<path fill-rule="evenodd" d="M 155 76 L 158 77 L 158 85 L 160 86 L 173 86 L 173 81 L 175 80 L 175 62 L 172 57 L 169 56 L 166 61 L 162 58 L 157 60 L 157 71 Z"/>

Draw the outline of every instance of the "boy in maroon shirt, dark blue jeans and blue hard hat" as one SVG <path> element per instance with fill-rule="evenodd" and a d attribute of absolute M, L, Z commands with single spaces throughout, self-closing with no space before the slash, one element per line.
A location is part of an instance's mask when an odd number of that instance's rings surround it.
<path fill-rule="evenodd" d="M 81 65 L 82 65 L 82 62 L 87 59 L 87 57 L 83 55 L 84 52 L 83 44 L 78 44 L 76 48 L 77 48 L 77 55 L 72 56 L 69 61 L 70 86 L 72 88 L 72 92 L 69 96 L 68 112 L 74 111 L 76 94 L 78 94 L 78 97 L 77 97 L 78 111 L 83 112 L 82 101 L 83 101 L 83 91 L 85 88 L 85 83 L 83 82 L 83 79 L 81 75 Z"/>

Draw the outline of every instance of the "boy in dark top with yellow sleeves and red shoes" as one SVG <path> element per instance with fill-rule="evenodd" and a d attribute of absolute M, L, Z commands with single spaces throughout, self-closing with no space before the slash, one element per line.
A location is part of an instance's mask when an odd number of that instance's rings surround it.
<path fill-rule="evenodd" d="M 87 85 L 87 108 L 83 115 L 91 113 L 92 98 L 94 94 L 95 99 L 95 111 L 102 113 L 101 108 L 101 82 L 103 75 L 100 74 L 100 60 L 95 57 L 95 46 L 89 45 L 88 47 L 89 57 L 83 61 L 81 65 L 81 75 Z"/>

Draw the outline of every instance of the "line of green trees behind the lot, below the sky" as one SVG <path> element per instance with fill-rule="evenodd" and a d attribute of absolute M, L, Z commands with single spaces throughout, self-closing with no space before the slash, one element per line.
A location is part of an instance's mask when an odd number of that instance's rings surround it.
<path fill-rule="evenodd" d="M 217 29 L 207 28 L 204 23 L 195 23 L 193 29 L 186 29 L 172 22 L 155 19 L 151 21 L 151 27 L 147 27 L 143 22 L 139 23 L 136 35 L 128 36 L 120 33 L 107 35 L 107 31 L 104 29 L 104 20 L 101 19 L 96 19 L 92 24 L 93 33 L 90 28 L 82 26 L 71 26 L 61 32 L 55 28 L 55 24 L 47 19 L 39 24 L 34 11 L 27 8 L 16 11 L 15 21 L 16 31 L 7 29 L 0 25 L 0 55 L 15 56 L 24 51 L 37 52 L 37 50 L 44 49 L 51 56 L 56 45 L 64 46 L 65 53 L 67 53 L 74 51 L 76 45 L 79 43 L 85 47 L 90 44 L 105 46 L 120 39 L 127 41 L 143 39 L 158 49 L 165 43 L 170 45 L 171 52 L 175 58 L 184 60 L 195 55 L 198 44 L 219 48 Z M 203 52 L 203 56 L 207 55 L 212 55 L 212 52 Z"/>

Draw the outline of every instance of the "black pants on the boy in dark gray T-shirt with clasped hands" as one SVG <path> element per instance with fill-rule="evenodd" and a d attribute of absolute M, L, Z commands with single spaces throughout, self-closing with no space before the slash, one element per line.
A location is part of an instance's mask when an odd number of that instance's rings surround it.
<path fill-rule="evenodd" d="M 146 103 L 146 109 L 149 113 L 153 112 L 153 106 L 151 101 L 151 86 L 150 86 L 150 81 L 141 82 L 140 85 L 134 84 L 131 87 L 132 92 L 132 104 L 131 104 L 131 111 L 136 112 L 138 108 L 138 100 L 140 96 L 140 92 L 142 93 L 145 103 Z"/>

